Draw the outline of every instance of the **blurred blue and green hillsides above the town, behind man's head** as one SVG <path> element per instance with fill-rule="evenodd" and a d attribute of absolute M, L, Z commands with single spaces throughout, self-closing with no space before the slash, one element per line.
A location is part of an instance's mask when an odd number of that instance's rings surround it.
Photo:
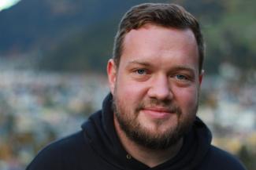
<path fill-rule="evenodd" d="M 0 57 L 32 53 L 43 70 L 105 71 L 121 16 L 140 2 L 176 2 L 200 20 L 207 72 L 223 62 L 254 69 L 256 2 L 241 0 L 22 0 L 0 12 Z"/>

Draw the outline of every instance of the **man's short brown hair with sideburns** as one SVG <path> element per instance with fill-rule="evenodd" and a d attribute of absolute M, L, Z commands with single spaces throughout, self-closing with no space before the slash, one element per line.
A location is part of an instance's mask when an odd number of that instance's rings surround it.
<path fill-rule="evenodd" d="M 125 34 L 132 29 L 139 29 L 145 24 L 156 24 L 162 27 L 174 27 L 177 29 L 191 29 L 198 45 L 198 69 L 202 71 L 204 42 L 198 21 L 180 5 L 161 3 L 135 5 L 124 14 L 119 24 L 113 46 L 113 60 L 117 67 L 121 60 Z"/>

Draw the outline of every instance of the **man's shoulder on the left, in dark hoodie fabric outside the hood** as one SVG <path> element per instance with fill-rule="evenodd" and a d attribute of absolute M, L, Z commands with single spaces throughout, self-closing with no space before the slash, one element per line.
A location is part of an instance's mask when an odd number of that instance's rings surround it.
<path fill-rule="evenodd" d="M 86 141 L 83 138 L 83 131 L 76 132 L 71 136 L 59 139 L 39 151 L 34 160 L 28 165 L 27 170 L 43 169 L 66 169 L 65 163 L 80 161 L 86 150 Z"/>

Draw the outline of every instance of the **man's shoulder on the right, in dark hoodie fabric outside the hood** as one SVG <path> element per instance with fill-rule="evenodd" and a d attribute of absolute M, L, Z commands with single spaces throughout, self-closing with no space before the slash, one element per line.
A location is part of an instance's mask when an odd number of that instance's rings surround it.
<path fill-rule="evenodd" d="M 237 157 L 216 146 L 210 146 L 202 166 L 202 169 L 246 170 Z"/>

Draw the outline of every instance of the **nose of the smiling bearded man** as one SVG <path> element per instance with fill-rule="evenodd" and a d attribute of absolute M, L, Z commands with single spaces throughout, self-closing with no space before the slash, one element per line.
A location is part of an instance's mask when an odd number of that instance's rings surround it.
<path fill-rule="evenodd" d="M 169 78 L 165 75 L 159 75 L 157 78 L 154 78 L 147 93 L 150 98 L 154 99 L 172 99 L 173 93 L 169 85 Z"/>

